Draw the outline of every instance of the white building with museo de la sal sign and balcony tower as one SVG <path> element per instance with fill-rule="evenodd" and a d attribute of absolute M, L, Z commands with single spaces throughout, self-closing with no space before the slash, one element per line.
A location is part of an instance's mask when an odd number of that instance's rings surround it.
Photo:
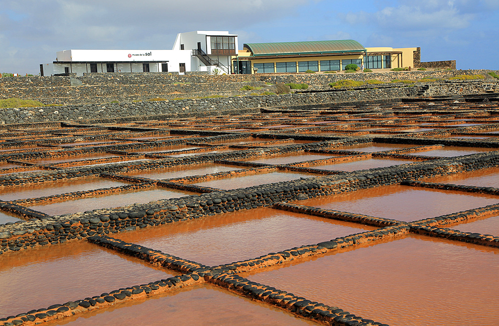
<path fill-rule="evenodd" d="M 238 35 L 228 31 L 179 33 L 172 50 L 64 50 L 55 61 L 40 64 L 41 76 L 76 73 L 179 72 L 215 69 L 231 74 Z"/>

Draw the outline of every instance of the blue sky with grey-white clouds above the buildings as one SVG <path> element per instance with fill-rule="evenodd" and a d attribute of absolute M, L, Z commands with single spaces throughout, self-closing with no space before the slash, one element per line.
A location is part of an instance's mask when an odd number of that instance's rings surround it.
<path fill-rule="evenodd" d="M 499 70 L 499 0 L 0 0 L 0 72 L 38 74 L 69 49 L 171 49 L 177 33 L 244 43 L 354 39 L 421 61 Z"/>

